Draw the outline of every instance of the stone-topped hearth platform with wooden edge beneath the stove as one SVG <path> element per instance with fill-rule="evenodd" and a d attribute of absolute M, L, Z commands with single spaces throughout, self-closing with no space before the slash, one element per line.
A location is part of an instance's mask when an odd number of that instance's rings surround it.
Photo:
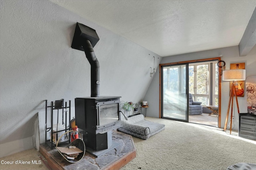
<path fill-rule="evenodd" d="M 51 149 L 45 143 L 40 144 L 40 153 L 52 170 L 119 170 L 136 157 L 136 149 L 130 135 L 113 131 L 112 141 L 120 145 L 98 158 L 85 152 L 82 160 L 76 163 L 66 161 L 55 147 Z"/>

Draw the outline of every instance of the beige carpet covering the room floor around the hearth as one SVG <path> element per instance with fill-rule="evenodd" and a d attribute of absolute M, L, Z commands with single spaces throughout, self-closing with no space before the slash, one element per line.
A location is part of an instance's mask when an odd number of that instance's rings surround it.
<path fill-rule="evenodd" d="M 225 170 L 239 162 L 256 163 L 256 141 L 240 138 L 237 132 L 229 135 L 217 127 L 145 119 L 163 123 L 166 129 L 147 140 L 133 137 L 136 158 L 122 170 Z M 36 149 L 29 149 L 2 157 L 1 161 L 14 161 L 14 164 L 0 164 L 0 170 L 47 170 L 43 162 L 15 164 L 16 160 L 39 162 L 38 155 L 41 154 Z"/>

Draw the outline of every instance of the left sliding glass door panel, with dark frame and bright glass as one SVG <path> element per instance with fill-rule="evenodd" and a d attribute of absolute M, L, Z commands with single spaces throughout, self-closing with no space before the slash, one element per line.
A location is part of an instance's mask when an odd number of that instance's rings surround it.
<path fill-rule="evenodd" d="M 188 64 L 161 69 L 161 117 L 188 122 Z"/>

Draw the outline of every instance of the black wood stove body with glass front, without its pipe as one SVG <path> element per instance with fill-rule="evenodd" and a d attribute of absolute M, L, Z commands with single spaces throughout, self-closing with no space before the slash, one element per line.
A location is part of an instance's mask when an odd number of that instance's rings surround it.
<path fill-rule="evenodd" d="M 112 145 L 112 130 L 120 127 L 120 96 L 75 99 L 76 125 L 84 130 L 86 148 L 94 151 Z"/>

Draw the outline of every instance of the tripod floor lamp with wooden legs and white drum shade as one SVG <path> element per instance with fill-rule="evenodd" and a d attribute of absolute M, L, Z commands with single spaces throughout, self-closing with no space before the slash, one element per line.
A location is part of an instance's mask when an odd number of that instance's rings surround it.
<path fill-rule="evenodd" d="M 227 112 L 226 122 L 225 122 L 225 126 L 224 126 L 224 131 L 226 131 L 230 103 L 232 102 L 231 116 L 230 116 L 230 135 L 231 135 L 234 96 L 236 98 L 236 106 L 237 106 L 237 110 L 238 110 L 238 114 L 239 114 L 239 106 L 238 106 L 238 100 L 237 100 L 237 96 L 236 96 L 235 81 L 245 80 L 245 70 L 244 69 L 224 70 L 223 74 L 222 74 L 222 80 L 223 81 L 232 81 L 231 92 L 230 92 L 230 97 L 229 97 L 229 102 L 228 102 L 228 112 Z"/>

